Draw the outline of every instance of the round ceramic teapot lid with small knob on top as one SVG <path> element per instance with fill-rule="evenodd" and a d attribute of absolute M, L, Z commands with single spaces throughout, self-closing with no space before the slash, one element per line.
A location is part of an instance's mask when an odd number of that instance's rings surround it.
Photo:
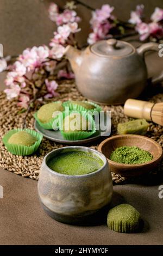
<path fill-rule="evenodd" d="M 101 57 L 126 57 L 134 50 L 134 46 L 128 42 L 113 38 L 98 41 L 91 46 L 91 51 Z"/>

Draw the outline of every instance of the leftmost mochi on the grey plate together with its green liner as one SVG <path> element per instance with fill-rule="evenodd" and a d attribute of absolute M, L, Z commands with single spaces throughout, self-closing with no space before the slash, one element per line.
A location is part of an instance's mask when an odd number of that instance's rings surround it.
<path fill-rule="evenodd" d="M 44 129 L 52 130 L 53 121 L 57 114 L 62 111 L 64 111 L 64 106 L 62 106 L 61 101 L 51 102 L 41 106 L 34 117 Z M 55 112 L 56 117 L 54 117 Z"/>

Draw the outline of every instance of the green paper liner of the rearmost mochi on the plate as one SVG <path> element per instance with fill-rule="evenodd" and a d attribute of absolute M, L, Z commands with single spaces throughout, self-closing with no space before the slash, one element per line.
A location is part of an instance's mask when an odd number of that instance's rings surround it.
<path fill-rule="evenodd" d="M 81 106 L 81 105 L 78 105 L 78 104 L 75 104 L 75 103 L 71 103 L 71 101 L 69 101 L 69 100 L 66 101 L 66 102 L 64 102 L 64 103 L 63 103 L 63 106 L 64 106 L 64 107 L 69 107 L 70 111 L 71 111 L 71 110 L 75 110 L 75 111 L 87 111 L 87 112 L 90 112 L 90 113 L 92 113 L 93 111 L 98 111 L 98 112 L 102 111 L 101 106 L 97 105 L 97 104 L 94 103 L 94 102 L 86 101 L 86 100 L 83 100 L 82 102 L 89 103 L 89 104 L 95 106 L 95 108 L 94 108 L 94 109 L 87 109 L 87 108 L 85 108 L 85 107 L 83 107 L 83 106 Z"/>

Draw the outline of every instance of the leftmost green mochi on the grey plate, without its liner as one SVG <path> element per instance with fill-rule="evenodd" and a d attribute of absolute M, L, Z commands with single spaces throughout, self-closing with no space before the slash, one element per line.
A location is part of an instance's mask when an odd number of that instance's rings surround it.
<path fill-rule="evenodd" d="M 39 111 L 37 111 L 37 118 L 43 124 L 48 123 L 55 111 L 64 111 L 64 107 L 61 102 L 52 102 L 43 105 L 40 107 Z"/>

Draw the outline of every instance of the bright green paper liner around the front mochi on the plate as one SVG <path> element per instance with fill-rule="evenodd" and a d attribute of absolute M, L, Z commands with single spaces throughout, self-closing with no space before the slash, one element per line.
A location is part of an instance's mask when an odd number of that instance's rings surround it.
<path fill-rule="evenodd" d="M 64 132 L 63 130 L 61 130 L 60 127 L 60 132 L 62 134 L 62 136 L 67 139 L 68 141 L 77 141 L 80 139 L 85 139 L 90 137 L 91 135 L 93 135 L 93 133 L 96 132 L 96 124 L 95 124 L 95 120 L 92 118 L 92 115 L 89 113 L 82 113 L 80 111 L 70 111 L 69 114 L 71 113 L 80 113 L 83 115 L 83 117 L 87 118 L 87 120 L 90 121 L 90 123 L 92 124 L 92 131 L 70 131 L 70 132 Z M 62 112 L 62 115 L 59 115 L 59 119 L 62 118 L 63 120 L 65 119 L 65 117 L 68 115 L 65 114 L 65 112 Z M 59 124 L 61 124 L 61 120 L 59 121 Z"/>

